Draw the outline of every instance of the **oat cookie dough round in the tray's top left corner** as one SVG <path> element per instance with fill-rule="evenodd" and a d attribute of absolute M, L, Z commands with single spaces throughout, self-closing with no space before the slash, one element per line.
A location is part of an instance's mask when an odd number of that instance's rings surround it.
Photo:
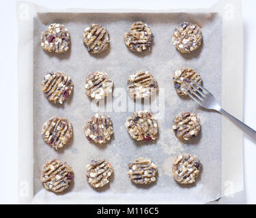
<path fill-rule="evenodd" d="M 53 23 L 43 31 L 40 40 L 46 52 L 63 53 L 70 48 L 70 32 L 59 23 Z"/>

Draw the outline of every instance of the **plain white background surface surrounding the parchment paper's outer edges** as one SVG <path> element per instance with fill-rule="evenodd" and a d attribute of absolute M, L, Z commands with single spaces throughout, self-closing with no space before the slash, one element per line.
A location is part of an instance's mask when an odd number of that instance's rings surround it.
<path fill-rule="evenodd" d="M 31 0 L 31 2 L 52 8 L 138 8 L 169 9 L 210 7 L 217 0 Z M 256 1 L 242 0 L 244 23 L 244 122 L 256 129 Z M 0 203 L 15 204 L 18 196 L 18 82 L 17 82 L 17 44 L 16 1 L 1 0 L 1 150 L 0 150 Z M 242 72 L 241 72 L 242 73 Z M 235 85 L 235 84 L 234 84 Z M 236 97 L 236 96 L 231 96 Z M 256 204 L 256 143 L 244 137 L 244 185 L 245 191 L 222 203 Z"/>

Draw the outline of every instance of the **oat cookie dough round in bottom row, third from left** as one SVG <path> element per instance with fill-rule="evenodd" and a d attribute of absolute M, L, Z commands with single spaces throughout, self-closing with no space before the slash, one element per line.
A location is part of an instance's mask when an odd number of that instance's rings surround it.
<path fill-rule="evenodd" d="M 130 181 L 136 184 L 150 184 L 156 181 L 156 165 L 148 158 L 139 157 L 128 164 Z"/>

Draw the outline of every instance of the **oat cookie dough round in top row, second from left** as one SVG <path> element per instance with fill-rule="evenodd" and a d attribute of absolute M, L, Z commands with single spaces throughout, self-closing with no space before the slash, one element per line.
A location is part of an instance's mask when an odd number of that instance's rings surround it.
<path fill-rule="evenodd" d="M 92 24 L 83 32 L 83 43 L 89 52 L 98 54 L 108 48 L 109 32 L 105 27 Z"/>

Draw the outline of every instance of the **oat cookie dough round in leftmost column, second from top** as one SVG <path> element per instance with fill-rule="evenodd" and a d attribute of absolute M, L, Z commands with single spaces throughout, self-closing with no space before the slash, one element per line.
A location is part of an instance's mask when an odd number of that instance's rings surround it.
<path fill-rule="evenodd" d="M 47 72 L 42 82 L 42 91 L 50 102 L 62 104 L 73 90 L 70 76 L 61 72 Z"/>

